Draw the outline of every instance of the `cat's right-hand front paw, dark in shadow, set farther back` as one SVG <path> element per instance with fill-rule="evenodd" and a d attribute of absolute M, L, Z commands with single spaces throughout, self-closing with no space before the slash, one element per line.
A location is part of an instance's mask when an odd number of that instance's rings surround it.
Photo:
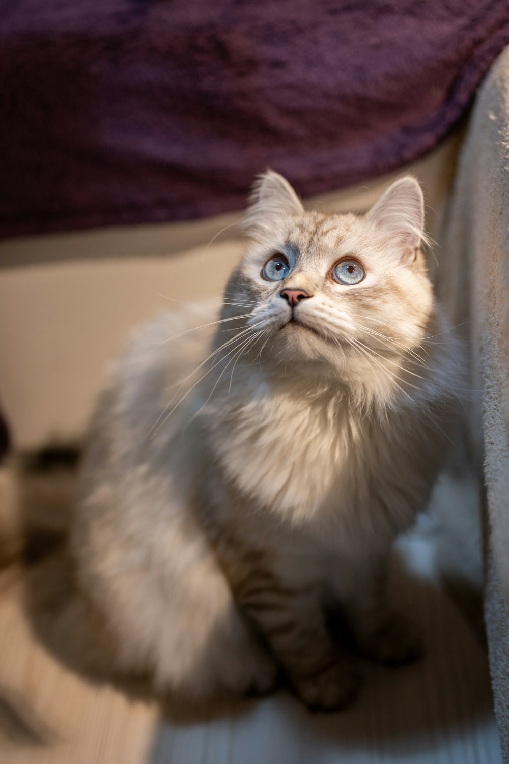
<path fill-rule="evenodd" d="M 395 613 L 376 631 L 358 639 L 358 647 L 366 657 L 391 666 L 410 663 L 424 652 L 417 626 Z"/>

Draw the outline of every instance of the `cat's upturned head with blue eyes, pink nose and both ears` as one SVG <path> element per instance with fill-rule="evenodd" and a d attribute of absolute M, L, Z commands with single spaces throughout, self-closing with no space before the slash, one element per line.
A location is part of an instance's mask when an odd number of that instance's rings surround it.
<path fill-rule="evenodd" d="M 423 208 L 419 183 L 407 176 L 365 215 L 306 212 L 287 180 L 264 173 L 243 221 L 251 243 L 223 309 L 248 314 L 245 357 L 264 345 L 261 360 L 285 374 L 349 384 L 371 374 L 381 387 L 401 378 L 398 365 L 405 358 L 404 374 L 413 364 L 433 315 Z"/>

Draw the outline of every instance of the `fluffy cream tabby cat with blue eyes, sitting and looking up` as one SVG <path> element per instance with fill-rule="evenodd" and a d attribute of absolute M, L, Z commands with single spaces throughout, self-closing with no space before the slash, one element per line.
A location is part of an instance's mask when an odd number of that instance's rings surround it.
<path fill-rule="evenodd" d="M 92 418 L 73 518 L 83 607 L 115 672 L 203 701 L 283 675 L 343 707 L 356 649 L 391 664 L 419 636 L 386 601 L 396 536 L 425 509 L 459 416 L 462 361 L 421 244 L 423 193 L 365 215 L 306 212 L 269 170 L 247 251 L 209 304 L 128 346 Z"/>

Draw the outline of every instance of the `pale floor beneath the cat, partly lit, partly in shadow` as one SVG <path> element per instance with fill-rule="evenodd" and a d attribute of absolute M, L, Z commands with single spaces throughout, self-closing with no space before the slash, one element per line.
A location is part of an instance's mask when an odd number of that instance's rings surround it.
<path fill-rule="evenodd" d="M 404 545 L 405 547 L 405 545 Z M 426 571 L 430 552 L 406 553 Z M 427 555 L 427 556 L 426 556 Z M 452 601 L 421 576 L 392 588 L 422 624 L 426 657 L 402 669 L 366 663 L 347 711 L 310 714 L 290 694 L 201 717 L 95 685 L 37 636 L 24 572 L 0 575 L 0 762 L 5 764 L 498 764 L 485 652 Z M 37 565 L 31 571 L 37 581 Z"/>

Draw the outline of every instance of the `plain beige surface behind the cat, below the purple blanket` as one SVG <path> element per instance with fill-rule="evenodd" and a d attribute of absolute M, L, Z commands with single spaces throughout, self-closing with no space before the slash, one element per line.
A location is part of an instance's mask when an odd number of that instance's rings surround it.
<path fill-rule="evenodd" d="M 439 238 L 457 138 L 408 168 L 423 183 L 427 228 Z M 394 176 L 311 200 L 362 210 Z M 242 242 L 235 215 L 0 243 L 0 401 L 18 445 L 83 431 L 106 364 L 132 327 L 173 300 L 221 295 Z M 443 252 L 436 251 L 437 259 Z"/>

